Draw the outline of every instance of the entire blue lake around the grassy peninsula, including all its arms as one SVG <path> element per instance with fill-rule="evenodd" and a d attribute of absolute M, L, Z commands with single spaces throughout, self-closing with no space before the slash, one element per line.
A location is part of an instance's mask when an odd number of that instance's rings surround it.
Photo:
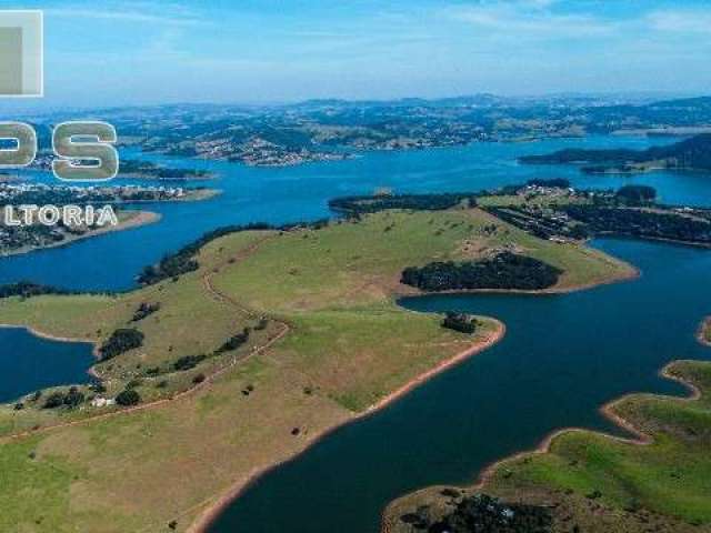
<path fill-rule="evenodd" d="M 142 266 L 208 230 L 322 218 L 330 214 L 329 199 L 367 194 L 381 187 L 397 192 L 478 191 L 563 177 L 579 188 L 645 183 L 669 203 L 711 204 L 708 173 L 588 177 L 574 168 L 517 163 L 519 155 L 562 148 L 645 148 L 672 141 L 597 137 L 481 143 L 368 153 L 350 161 L 286 169 L 140 155 L 212 170 L 219 178 L 199 184 L 224 193 L 206 202 L 141 204 L 160 212 L 161 222 L 1 259 L 0 283 L 32 280 L 80 290 L 128 290 L 136 286 Z M 137 154 L 129 150 L 124 157 Z M 32 177 L 51 180 L 46 173 Z M 268 474 L 228 509 L 212 531 L 375 532 L 380 512 L 393 497 L 433 483 L 469 482 L 487 463 L 532 447 L 558 428 L 615 431 L 598 408 L 627 392 L 681 392 L 657 372 L 674 359 L 709 356 L 693 333 L 701 318 L 711 313 L 711 252 L 619 240 L 595 245 L 637 264 L 643 276 L 568 295 L 428 296 L 403 302 L 418 311 L 497 316 L 507 323 L 508 334 L 493 349 L 382 412 L 342 428 Z M 70 352 L 66 360 L 57 355 L 62 350 Z M 7 364 L 0 368 L 0 375 L 7 376 L 0 380 L 0 400 L 49 384 L 82 381 L 90 361 L 87 345 L 50 343 L 21 330 L 0 330 L 0 364 Z"/>

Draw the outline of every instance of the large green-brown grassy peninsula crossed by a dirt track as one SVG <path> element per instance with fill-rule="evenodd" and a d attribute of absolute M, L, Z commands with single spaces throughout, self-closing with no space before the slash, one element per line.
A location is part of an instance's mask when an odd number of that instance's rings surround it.
<path fill-rule="evenodd" d="M 230 489 L 493 338 L 494 321 L 465 335 L 395 299 L 412 293 L 399 283 L 405 266 L 504 249 L 564 269 L 562 290 L 631 273 L 479 210 L 383 212 L 320 230 L 232 233 L 202 249 L 198 271 L 128 294 L 0 301 L 0 323 L 59 338 L 101 343 L 139 329 L 141 348 L 96 371 L 107 395 L 132 383 L 148 404 L 113 415 L 116 406 L 44 410 L 41 399 L 1 408 L 0 531 L 156 532 L 171 521 L 184 531 Z M 131 322 L 141 303 L 160 310 Z M 252 333 L 236 352 L 172 369 L 244 326 Z M 193 388 L 198 373 L 208 379 Z M 64 425 L 10 436 L 51 424 Z"/>

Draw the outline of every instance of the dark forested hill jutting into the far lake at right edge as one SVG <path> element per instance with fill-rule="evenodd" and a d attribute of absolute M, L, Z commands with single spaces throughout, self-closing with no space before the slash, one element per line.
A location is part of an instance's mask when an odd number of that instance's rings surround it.
<path fill-rule="evenodd" d="M 568 149 L 547 155 L 527 155 L 520 159 L 528 164 L 597 164 L 645 165 L 677 169 L 711 170 L 711 133 L 685 139 L 665 147 L 647 150 L 581 150 Z M 638 168 L 638 170 L 643 170 Z"/>

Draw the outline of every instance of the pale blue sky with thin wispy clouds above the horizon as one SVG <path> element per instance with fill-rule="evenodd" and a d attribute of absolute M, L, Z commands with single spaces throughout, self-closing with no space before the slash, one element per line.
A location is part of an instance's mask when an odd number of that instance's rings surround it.
<path fill-rule="evenodd" d="M 48 105 L 711 92 L 711 2 L 700 0 L 8 7 L 44 10 Z"/>

